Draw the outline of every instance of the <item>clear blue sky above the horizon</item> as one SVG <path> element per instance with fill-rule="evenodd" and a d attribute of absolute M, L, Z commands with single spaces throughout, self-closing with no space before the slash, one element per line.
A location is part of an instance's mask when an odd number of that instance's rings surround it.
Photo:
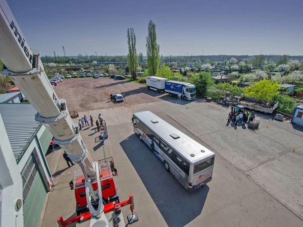
<path fill-rule="evenodd" d="M 160 54 L 303 55 L 302 0 L 7 0 L 42 56 L 127 55 L 133 28 L 146 55 L 149 20 Z M 95 53 L 96 52 L 96 53 Z"/>

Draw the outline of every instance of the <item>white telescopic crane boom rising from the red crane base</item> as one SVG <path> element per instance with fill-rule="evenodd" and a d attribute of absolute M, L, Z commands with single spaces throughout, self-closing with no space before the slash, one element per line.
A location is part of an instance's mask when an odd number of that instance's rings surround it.
<path fill-rule="evenodd" d="M 0 59 L 3 62 L 1 73 L 9 76 L 24 93 L 38 112 L 36 121 L 41 122 L 53 134 L 55 143 L 59 144 L 81 166 L 85 180 L 91 186 L 89 178 L 96 178 L 93 162 L 79 134 L 78 126 L 72 122 L 65 100 L 58 98 L 47 79 L 40 60 L 40 52 L 29 48 L 5 0 L 0 0 L 0 15 Z M 15 185 L 14 181 L 10 182 Z M 3 182 L 0 182 L 0 185 L 3 185 Z M 93 200 L 102 198 L 90 186 L 88 188 Z M 90 210 L 90 212 L 95 216 L 96 213 L 102 212 L 103 205 L 99 209 L 99 211 Z M 22 207 L 20 210 L 22 211 Z M 1 211 L 6 212 L 6 210 Z M 15 225 L 8 223 L 7 226 Z"/>

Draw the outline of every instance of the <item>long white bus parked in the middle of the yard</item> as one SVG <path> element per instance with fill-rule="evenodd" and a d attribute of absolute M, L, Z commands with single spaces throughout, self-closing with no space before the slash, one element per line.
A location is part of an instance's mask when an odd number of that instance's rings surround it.
<path fill-rule="evenodd" d="M 212 180 L 215 153 L 150 111 L 133 114 L 134 132 L 189 191 Z"/>

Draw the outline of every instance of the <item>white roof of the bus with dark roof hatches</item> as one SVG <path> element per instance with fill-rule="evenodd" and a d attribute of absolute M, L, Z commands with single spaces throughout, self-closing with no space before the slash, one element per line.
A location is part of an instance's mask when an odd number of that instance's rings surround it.
<path fill-rule="evenodd" d="M 211 150 L 191 139 L 150 111 L 136 112 L 133 115 L 192 164 L 215 155 Z M 204 152 L 201 150 L 204 150 Z"/>

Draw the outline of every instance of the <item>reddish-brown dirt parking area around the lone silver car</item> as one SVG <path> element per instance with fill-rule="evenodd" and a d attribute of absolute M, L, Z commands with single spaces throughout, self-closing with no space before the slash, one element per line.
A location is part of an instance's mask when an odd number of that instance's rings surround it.
<path fill-rule="evenodd" d="M 114 80 L 109 77 L 100 78 L 68 78 L 55 88 L 59 98 L 64 98 L 69 110 L 79 112 L 93 109 L 132 106 L 149 102 L 162 101 L 169 97 L 164 93 L 147 90 L 143 84 L 127 80 Z M 111 101 L 110 94 L 122 93 L 125 101 Z M 167 96 L 167 97 L 166 97 Z"/>

